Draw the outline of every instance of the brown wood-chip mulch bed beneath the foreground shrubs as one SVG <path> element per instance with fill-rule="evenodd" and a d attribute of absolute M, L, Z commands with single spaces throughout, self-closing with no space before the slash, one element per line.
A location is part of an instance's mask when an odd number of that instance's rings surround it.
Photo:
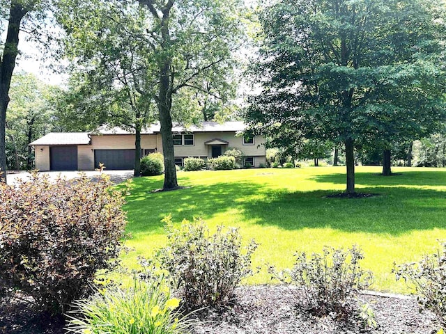
<path fill-rule="evenodd" d="M 298 312 L 289 289 L 283 286 L 240 287 L 231 307 L 202 310 L 194 334 L 435 334 L 440 325 L 430 312 L 420 312 L 413 298 L 364 294 L 362 303 L 374 310 L 378 327 L 362 331 L 330 317 L 316 318 Z M 63 319 L 39 314 L 24 302 L 0 301 L 0 333 L 63 334 Z"/>

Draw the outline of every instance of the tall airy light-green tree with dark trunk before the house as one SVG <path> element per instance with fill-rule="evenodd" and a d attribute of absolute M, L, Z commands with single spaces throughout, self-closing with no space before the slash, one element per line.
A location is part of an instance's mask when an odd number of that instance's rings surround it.
<path fill-rule="evenodd" d="M 156 105 L 164 154 L 163 189 L 178 188 L 172 122 L 186 118 L 183 113 L 193 109 L 190 103 L 197 103 L 187 99 L 190 92 L 223 99 L 217 88 L 231 86 L 233 50 L 243 31 L 240 4 L 234 0 L 68 1 L 68 8 L 72 6 L 77 6 L 76 12 L 64 11 L 59 19 L 66 26 L 67 44 L 74 46 L 76 61 L 86 70 L 97 69 L 109 57 L 121 67 L 119 71 L 128 65 L 123 59 L 136 64 L 130 73 L 121 71 L 121 79 L 129 74 L 139 98 Z M 115 23 L 109 28 L 111 22 Z M 107 48 L 104 35 L 107 41 L 124 46 L 122 54 L 118 47 Z M 132 47 L 121 44 L 124 38 Z M 98 47 L 91 47 L 95 44 Z M 113 82 L 116 85 L 116 77 Z"/>

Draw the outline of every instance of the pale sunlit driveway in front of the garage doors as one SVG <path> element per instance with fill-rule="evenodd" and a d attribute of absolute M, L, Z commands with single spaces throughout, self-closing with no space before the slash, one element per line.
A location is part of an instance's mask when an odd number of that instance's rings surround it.
<path fill-rule="evenodd" d="M 75 179 L 76 177 L 79 177 L 79 173 L 81 172 L 38 172 L 39 174 L 45 174 L 48 175 L 50 180 L 56 180 L 56 178 L 61 175 L 61 177 L 66 177 L 67 179 Z M 85 172 L 87 177 L 90 177 L 91 179 L 98 177 L 100 175 L 99 172 L 95 170 L 87 170 Z M 131 179 L 133 177 L 133 170 L 104 170 L 102 173 L 107 174 L 110 176 L 110 180 L 112 182 L 118 184 L 121 182 L 124 182 L 127 179 Z M 28 180 L 29 179 L 29 173 L 28 172 L 19 172 L 19 173 L 8 173 L 6 180 L 8 184 L 15 184 L 17 180 Z"/>

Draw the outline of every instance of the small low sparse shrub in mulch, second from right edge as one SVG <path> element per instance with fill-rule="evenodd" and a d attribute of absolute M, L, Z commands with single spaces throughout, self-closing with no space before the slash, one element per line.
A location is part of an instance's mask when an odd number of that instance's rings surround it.
<path fill-rule="evenodd" d="M 299 308 L 316 316 L 330 315 L 334 319 L 360 318 L 356 296 L 371 284 L 371 273 L 360 268 L 363 255 L 353 246 L 348 251 L 323 248 L 323 254 L 313 253 L 307 258 L 305 252 L 295 255 L 293 269 L 270 273 L 283 283 L 291 283 L 302 289 L 296 294 Z"/>

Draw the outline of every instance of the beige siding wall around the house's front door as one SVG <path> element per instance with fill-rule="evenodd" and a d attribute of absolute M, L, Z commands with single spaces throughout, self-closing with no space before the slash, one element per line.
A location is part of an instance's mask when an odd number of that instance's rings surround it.
<path fill-rule="evenodd" d="M 243 137 L 236 137 L 235 132 L 196 132 L 194 133 L 194 145 L 174 145 L 175 157 L 212 157 L 211 146 L 206 145 L 206 141 L 213 138 L 219 138 L 229 142 L 228 145 L 222 145 L 222 153 L 228 148 L 238 148 L 249 157 L 266 156 L 266 148 L 264 145 L 258 147 L 259 144 L 265 143 L 265 138 L 256 136 L 254 145 L 243 145 Z M 260 163 L 259 163 L 260 164 Z M 256 164 L 257 165 L 257 164 Z"/>

